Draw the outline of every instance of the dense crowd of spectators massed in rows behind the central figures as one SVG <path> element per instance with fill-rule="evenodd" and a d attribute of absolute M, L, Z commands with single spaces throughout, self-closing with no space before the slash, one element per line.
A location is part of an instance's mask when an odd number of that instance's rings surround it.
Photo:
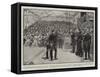
<path fill-rule="evenodd" d="M 27 29 L 24 29 L 24 44 L 26 46 L 45 46 L 50 31 L 53 29 L 58 33 L 58 41 L 60 44 L 64 42 L 64 37 L 69 35 L 70 22 L 65 21 L 37 21 Z"/>

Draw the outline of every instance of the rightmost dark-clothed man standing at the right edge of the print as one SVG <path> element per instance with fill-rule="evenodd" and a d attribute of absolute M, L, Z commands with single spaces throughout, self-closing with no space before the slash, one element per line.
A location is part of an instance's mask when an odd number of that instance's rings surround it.
<path fill-rule="evenodd" d="M 84 35 L 84 40 L 83 40 L 85 60 L 90 59 L 90 45 L 91 45 L 91 35 L 87 31 L 87 33 Z"/>

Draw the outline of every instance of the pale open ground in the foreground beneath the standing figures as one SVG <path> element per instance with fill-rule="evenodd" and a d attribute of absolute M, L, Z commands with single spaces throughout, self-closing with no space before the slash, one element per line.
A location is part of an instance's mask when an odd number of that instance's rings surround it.
<path fill-rule="evenodd" d="M 46 48 L 39 47 L 24 47 L 24 64 L 53 64 L 53 63 L 69 63 L 83 62 L 83 58 L 71 53 L 71 49 L 57 49 L 57 60 L 50 61 L 44 59 Z"/>

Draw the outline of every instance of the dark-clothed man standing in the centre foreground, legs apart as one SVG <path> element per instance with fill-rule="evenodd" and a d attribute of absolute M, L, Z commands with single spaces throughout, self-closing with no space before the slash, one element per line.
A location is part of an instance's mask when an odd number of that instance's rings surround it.
<path fill-rule="evenodd" d="M 57 33 L 52 30 L 49 38 L 49 45 L 50 45 L 50 60 L 57 59 Z M 54 57 L 53 57 L 53 50 L 54 50 Z"/>

